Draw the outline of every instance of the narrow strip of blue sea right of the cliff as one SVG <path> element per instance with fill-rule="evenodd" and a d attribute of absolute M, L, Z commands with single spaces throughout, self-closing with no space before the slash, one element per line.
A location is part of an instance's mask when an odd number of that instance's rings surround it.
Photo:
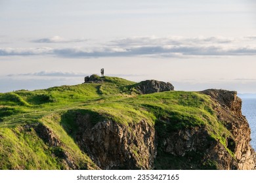
<path fill-rule="evenodd" d="M 251 146 L 256 150 L 256 98 L 242 99 L 242 114 L 246 117 L 251 128 Z"/>

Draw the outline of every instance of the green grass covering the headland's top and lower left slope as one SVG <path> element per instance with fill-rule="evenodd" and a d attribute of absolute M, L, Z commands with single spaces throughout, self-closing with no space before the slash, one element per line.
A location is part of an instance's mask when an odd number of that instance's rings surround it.
<path fill-rule="evenodd" d="M 207 95 L 196 92 L 162 92 L 136 95 L 128 80 L 104 77 L 100 84 L 60 86 L 33 92 L 20 90 L 0 93 L 0 169 L 64 169 L 53 157 L 35 131 L 24 130 L 25 124 L 41 122 L 52 129 L 64 144 L 62 148 L 76 157 L 75 161 L 93 163 L 72 139 L 75 111 L 127 124 L 144 119 L 158 125 L 158 133 L 205 125 L 214 139 L 223 144 L 228 131 L 217 121 L 213 103 Z M 64 128 L 63 128 L 64 127 Z M 68 133 L 64 129 L 70 129 Z M 73 131 L 73 132 L 72 132 Z M 71 137 L 70 137 L 71 136 Z M 28 161 L 28 159 L 32 159 Z"/>

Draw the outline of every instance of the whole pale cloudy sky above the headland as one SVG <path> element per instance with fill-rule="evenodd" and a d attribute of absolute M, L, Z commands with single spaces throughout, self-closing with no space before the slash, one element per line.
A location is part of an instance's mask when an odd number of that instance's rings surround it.
<path fill-rule="evenodd" d="M 256 93 L 256 1 L 0 0 L 0 92 L 87 75 Z"/>

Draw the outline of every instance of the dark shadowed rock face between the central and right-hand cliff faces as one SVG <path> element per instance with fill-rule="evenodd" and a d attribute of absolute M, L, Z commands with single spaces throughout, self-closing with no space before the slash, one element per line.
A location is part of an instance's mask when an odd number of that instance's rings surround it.
<path fill-rule="evenodd" d="M 192 127 L 167 132 L 165 137 L 158 138 L 158 150 L 160 156 L 157 157 L 157 169 L 226 169 L 222 165 L 223 160 L 216 154 L 219 153 L 220 142 L 210 138 L 210 135 L 202 127 Z M 223 148 L 226 156 L 232 161 L 226 149 Z M 213 153 L 213 157 L 209 154 Z M 171 159 L 166 159 L 172 157 Z M 162 160 L 163 159 L 163 160 Z M 220 160 L 220 162 L 218 161 Z M 167 161 L 165 163 L 165 161 Z M 218 162 L 217 162 L 218 161 Z M 210 165 L 210 162 L 215 162 Z"/>

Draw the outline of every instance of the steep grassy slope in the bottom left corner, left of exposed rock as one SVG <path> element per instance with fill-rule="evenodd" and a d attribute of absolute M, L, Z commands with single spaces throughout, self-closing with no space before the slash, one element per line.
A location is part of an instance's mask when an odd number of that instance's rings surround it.
<path fill-rule="evenodd" d="M 0 137 L 1 169 L 61 169 L 63 166 L 33 130 L 0 128 Z"/>

